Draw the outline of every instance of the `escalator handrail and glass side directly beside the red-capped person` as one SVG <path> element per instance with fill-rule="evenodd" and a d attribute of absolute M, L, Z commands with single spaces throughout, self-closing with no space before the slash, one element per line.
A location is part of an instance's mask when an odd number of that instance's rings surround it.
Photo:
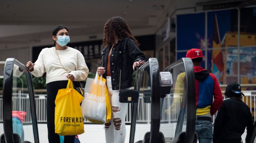
<path fill-rule="evenodd" d="M 175 85 L 175 89 L 173 90 L 173 107 L 170 106 L 167 109 L 169 114 L 174 114 L 170 115 L 170 117 L 175 117 L 175 114 L 177 114 L 177 123 L 176 126 L 174 126 L 174 140 L 180 133 L 182 133 L 182 131 L 185 131 L 184 143 L 192 143 L 194 139 L 196 118 L 195 77 L 192 60 L 190 58 L 182 58 L 166 67 L 165 71 L 172 73 Z M 161 99 L 161 109 L 163 100 L 164 99 Z M 179 107 L 179 109 L 177 110 L 175 107 Z M 165 111 L 162 113 L 164 112 Z M 175 125 L 175 123 L 173 124 Z"/>

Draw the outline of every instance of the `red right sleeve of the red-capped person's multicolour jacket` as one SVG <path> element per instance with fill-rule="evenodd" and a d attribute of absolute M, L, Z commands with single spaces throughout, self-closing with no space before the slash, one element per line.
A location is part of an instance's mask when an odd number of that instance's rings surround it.
<path fill-rule="evenodd" d="M 214 115 L 218 109 L 222 105 L 223 97 L 222 97 L 222 92 L 220 85 L 218 83 L 218 80 L 215 75 L 210 73 L 210 76 L 213 78 L 214 81 L 214 87 L 213 87 L 213 104 L 211 107 L 211 115 Z"/>

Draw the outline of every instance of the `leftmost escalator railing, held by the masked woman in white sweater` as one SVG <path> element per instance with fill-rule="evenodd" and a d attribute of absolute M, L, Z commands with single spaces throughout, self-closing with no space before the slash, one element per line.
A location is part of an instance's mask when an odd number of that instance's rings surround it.
<path fill-rule="evenodd" d="M 23 74 L 26 78 L 26 85 L 28 88 L 29 107 L 31 111 L 32 126 L 33 126 L 33 139 L 35 143 L 39 143 L 37 117 L 35 110 L 35 100 L 33 92 L 33 83 L 31 74 L 28 69 L 18 60 L 14 58 L 8 58 L 5 61 L 4 68 L 4 83 L 3 83 L 3 123 L 4 123 L 4 134 L 5 141 L 8 143 L 14 143 L 13 133 L 13 118 L 12 118 L 12 106 L 13 102 L 16 102 L 13 95 L 13 76 L 17 74 Z M 20 75 L 17 75 L 17 77 Z"/>

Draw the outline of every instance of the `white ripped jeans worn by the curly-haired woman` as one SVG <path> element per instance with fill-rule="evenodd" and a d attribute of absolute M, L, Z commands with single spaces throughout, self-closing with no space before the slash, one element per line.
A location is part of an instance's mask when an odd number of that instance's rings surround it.
<path fill-rule="evenodd" d="M 107 76 L 107 88 L 111 104 L 111 120 L 110 123 L 104 124 L 106 143 L 124 143 L 126 137 L 126 126 L 124 122 L 128 103 L 119 102 L 119 90 L 112 90 L 110 76 Z"/>

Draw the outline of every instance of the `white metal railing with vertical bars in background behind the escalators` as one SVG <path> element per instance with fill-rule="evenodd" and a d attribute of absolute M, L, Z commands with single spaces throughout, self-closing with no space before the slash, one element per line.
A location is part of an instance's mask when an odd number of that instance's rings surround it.
<path fill-rule="evenodd" d="M 223 91 L 224 92 L 224 91 Z M 242 101 L 250 107 L 252 117 L 256 121 L 256 91 L 243 91 L 245 96 Z M 35 95 L 35 105 L 36 105 L 36 115 L 38 123 L 46 123 L 46 94 L 36 94 Z M 178 112 L 176 113 L 169 111 L 169 114 L 165 112 L 173 104 L 173 96 L 171 94 L 167 95 L 163 102 L 163 110 L 161 123 L 173 123 L 178 119 Z M 25 111 L 27 114 L 25 116 L 24 123 L 32 123 L 31 112 L 28 94 L 25 93 L 14 93 L 13 94 L 13 110 Z M 176 110 L 180 110 L 176 107 Z M 128 104 L 128 112 L 126 114 L 125 123 L 131 123 L 131 104 Z M 188 109 L 189 111 L 189 109 Z M 216 115 L 216 114 L 215 114 Z M 215 115 L 213 115 L 213 122 Z M 3 122 L 3 98 L 0 95 L 0 122 Z M 142 94 L 140 93 L 138 101 L 138 113 L 137 113 L 137 123 L 150 123 L 151 122 L 151 104 L 145 104 Z M 90 123 L 85 120 L 84 123 Z"/>

